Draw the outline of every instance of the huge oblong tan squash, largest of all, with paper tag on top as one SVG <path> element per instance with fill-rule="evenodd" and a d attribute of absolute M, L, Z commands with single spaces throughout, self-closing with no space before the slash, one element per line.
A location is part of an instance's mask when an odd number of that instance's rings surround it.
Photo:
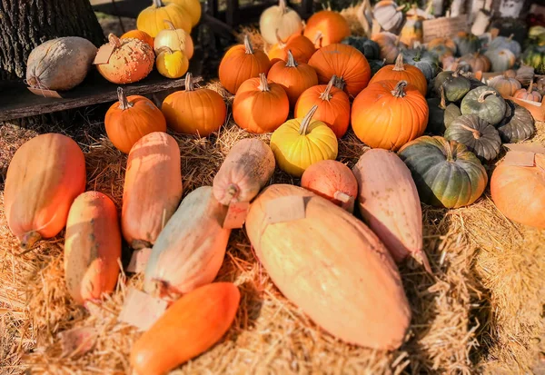
<path fill-rule="evenodd" d="M 269 224 L 267 204 L 292 195 L 305 197 L 305 218 Z M 325 331 L 370 348 L 401 345 L 411 310 L 399 271 L 351 213 L 300 187 L 275 184 L 252 203 L 246 232 L 272 281 Z"/>

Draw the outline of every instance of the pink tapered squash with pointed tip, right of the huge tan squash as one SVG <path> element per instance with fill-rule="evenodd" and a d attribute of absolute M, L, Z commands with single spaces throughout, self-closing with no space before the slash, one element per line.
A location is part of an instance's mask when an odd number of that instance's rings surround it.
<path fill-rule="evenodd" d="M 396 262 L 413 256 L 430 271 L 422 250 L 422 211 L 411 171 L 396 153 L 372 149 L 352 169 L 360 190 L 358 207 Z"/>

